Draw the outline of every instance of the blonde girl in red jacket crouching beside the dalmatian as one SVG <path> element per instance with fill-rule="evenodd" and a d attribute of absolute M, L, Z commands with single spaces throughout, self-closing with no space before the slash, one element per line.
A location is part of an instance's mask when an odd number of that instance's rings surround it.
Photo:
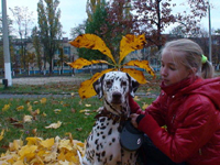
<path fill-rule="evenodd" d="M 186 38 L 165 44 L 161 77 L 161 95 L 145 112 L 130 97 L 131 122 L 147 135 L 141 157 L 147 165 L 219 165 L 220 78 L 211 78 L 200 46 Z"/>

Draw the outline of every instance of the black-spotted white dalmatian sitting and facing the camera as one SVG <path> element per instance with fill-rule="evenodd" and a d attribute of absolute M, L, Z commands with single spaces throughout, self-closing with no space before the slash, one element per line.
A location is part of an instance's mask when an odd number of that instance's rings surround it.
<path fill-rule="evenodd" d="M 136 152 L 120 145 L 120 131 L 130 117 L 129 95 L 134 96 L 139 82 L 122 72 L 105 74 L 94 88 L 103 108 L 87 139 L 84 165 L 135 165 Z"/>

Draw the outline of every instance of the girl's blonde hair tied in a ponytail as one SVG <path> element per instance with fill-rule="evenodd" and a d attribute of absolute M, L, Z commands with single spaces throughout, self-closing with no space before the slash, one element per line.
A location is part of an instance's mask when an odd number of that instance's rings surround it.
<path fill-rule="evenodd" d="M 196 68 L 196 75 L 202 78 L 213 77 L 215 69 L 209 61 L 202 64 L 201 57 L 204 52 L 201 47 L 191 40 L 180 38 L 167 42 L 162 50 L 162 54 L 165 50 L 178 52 L 182 55 L 182 64 L 187 68 Z"/>

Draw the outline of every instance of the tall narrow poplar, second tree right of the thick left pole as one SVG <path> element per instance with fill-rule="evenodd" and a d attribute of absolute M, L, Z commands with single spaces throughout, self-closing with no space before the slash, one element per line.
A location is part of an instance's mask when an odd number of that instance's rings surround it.
<path fill-rule="evenodd" d="M 62 24 L 59 22 L 61 10 L 58 0 L 40 0 L 37 3 L 38 31 L 46 61 L 50 64 L 50 73 L 53 70 L 53 57 L 58 50 L 62 37 Z"/>

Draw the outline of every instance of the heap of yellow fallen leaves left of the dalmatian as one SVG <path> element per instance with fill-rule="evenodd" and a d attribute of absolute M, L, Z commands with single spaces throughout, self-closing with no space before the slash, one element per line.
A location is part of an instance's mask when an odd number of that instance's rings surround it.
<path fill-rule="evenodd" d="M 79 165 L 78 152 L 85 154 L 85 144 L 69 139 L 43 140 L 41 138 L 26 138 L 26 144 L 22 140 L 14 140 L 9 144 L 9 150 L 1 154 L 1 165 Z"/>

